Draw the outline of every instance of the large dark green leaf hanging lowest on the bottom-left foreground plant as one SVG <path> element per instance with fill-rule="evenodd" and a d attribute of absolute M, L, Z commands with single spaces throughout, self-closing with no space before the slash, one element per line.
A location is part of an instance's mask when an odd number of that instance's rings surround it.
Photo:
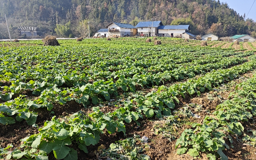
<path fill-rule="evenodd" d="M 70 145 L 71 141 L 68 140 L 55 140 L 53 142 L 53 154 L 57 159 L 63 159 L 68 155 L 70 148 L 66 145 Z"/>

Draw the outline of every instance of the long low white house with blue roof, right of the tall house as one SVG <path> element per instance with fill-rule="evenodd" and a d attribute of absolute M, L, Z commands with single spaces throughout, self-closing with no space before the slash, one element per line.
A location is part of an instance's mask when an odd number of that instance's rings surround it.
<path fill-rule="evenodd" d="M 159 26 L 158 35 L 163 37 L 182 36 L 184 38 L 185 32 L 190 30 L 189 25 L 172 25 L 172 26 Z"/>

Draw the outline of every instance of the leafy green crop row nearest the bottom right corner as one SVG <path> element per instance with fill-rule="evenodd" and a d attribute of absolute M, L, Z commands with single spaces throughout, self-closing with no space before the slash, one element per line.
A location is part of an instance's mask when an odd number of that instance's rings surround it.
<path fill-rule="evenodd" d="M 211 160 L 221 157 L 228 160 L 223 153 L 225 148 L 230 147 L 226 139 L 233 143 L 233 138 L 239 140 L 244 130 L 244 122 L 252 120 L 256 116 L 256 75 L 239 85 L 236 91 L 229 95 L 231 100 L 226 100 L 218 105 L 212 116 L 205 116 L 203 124 L 195 123 L 193 129 L 186 129 L 182 132 L 176 142 L 177 154 L 188 153 L 192 157 L 199 156 L 199 152 L 207 153 Z M 253 131 L 255 134 L 255 131 Z M 253 137 L 244 134 L 242 140 L 255 140 Z M 251 143 L 253 146 L 255 143 Z"/>

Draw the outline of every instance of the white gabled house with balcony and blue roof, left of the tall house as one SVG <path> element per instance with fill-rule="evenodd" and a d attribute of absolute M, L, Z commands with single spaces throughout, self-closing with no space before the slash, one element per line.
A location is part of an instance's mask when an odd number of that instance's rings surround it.
<path fill-rule="evenodd" d="M 108 36 L 135 36 L 137 28 L 131 24 L 112 22 L 108 26 Z"/>

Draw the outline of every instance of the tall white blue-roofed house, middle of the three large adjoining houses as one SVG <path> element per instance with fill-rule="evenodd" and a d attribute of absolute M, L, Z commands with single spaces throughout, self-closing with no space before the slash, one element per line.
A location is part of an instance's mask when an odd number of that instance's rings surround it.
<path fill-rule="evenodd" d="M 153 24 L 153 25 L 152 25 Z M 147 22 L 139 22 L 135 27 L 138 29 L 138 33 L 148 34 L 156 36 L 158 34 L 158 27 L 163 26 L 162 21 L 147 21 Z"/>

